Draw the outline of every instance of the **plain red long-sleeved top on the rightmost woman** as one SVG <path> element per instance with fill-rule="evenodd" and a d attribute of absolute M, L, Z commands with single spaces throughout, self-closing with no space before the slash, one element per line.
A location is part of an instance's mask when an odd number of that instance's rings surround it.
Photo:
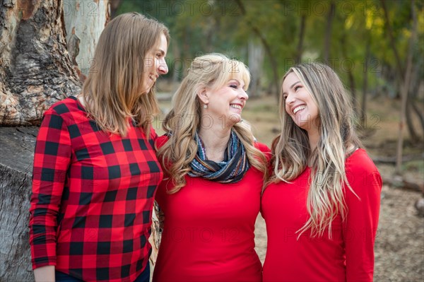
<path fill-rule="evenodd" d="M 333 221 L 331 240 L 328 232 L 317 238 L 305 232 L 297 240 L 295 232 L 309 218 L 310 168 L 291 184 L 266 187 L 261 206 L 268 233 L 264 281 L 372 281 L 382 180 L 363 149 L 346 160 L 346 175 L 359 199 L 345 187 L 347 218 L 342 222 L 339 215 Z"/>

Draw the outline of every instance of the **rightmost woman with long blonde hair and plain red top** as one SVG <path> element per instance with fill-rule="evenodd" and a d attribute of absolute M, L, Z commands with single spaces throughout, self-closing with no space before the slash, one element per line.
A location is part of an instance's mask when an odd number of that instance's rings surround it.
<path fill-rule="evenodd" d="M 261 201 L 264 281 L 372 281 L 382 180 L 348 93 L 329 66 L 311 63 L 289 69 L 280 99 Z"/>

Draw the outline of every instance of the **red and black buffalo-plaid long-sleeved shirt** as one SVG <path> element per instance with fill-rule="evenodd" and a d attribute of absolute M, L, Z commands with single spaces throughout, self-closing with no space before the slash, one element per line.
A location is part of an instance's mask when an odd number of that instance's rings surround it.
<path fill-rule="evenodd" d="M 33 269 L 84 281 L 134 281 L 148 264 L 153 196 L 163 172 L 151 139 L 131 124 L 105 134 L 71 96 L 37 136 L 30 207 Z"/>

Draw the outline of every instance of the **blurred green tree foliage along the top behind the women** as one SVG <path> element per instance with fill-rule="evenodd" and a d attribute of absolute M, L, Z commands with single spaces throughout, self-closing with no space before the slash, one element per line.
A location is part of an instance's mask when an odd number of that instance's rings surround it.
<path fill-rule="evenodd" d="M 336 10 L 331 30 L 327 30 L 331 3 L 335 4 Z M 405 64 L 412 29 L 411 1 L 386 0 L 385 3 L 395 45 Z M 122 0 L 118 14 L 128 11 L 157 18 L 170 29 L 172 42 L 167 57 L 174 66 L 170 68 L 170 76 L 177 72 L 181 77 L 189 61 L 206 52 L 223 52 L 247 61 L 249 40 L 258 45 L 265 40 L 272 57 L 266 55 L 261 79 L 272 81 L 271 59 L 278 63 L 279 76 L 294 64 L 301 17 L 305 16 L 302 61 L 322 61 L 325 34 L 330 31 L 328 63 L 343 81 L 347 82 L 351 72 L 357 88 L 360 88 L 365 76 L 365 53 L 370 45 L 369 86 L 375 88 L 379 84 L 388 84 L 396 88 L 393 84 L 396 81 L 396 60 L 379 0 Z M 418 58 L 415 60 L 417 64 L 423 65 L 419 59 L 424 52 L 422 0 L 416 0 L 416 11 L 418 44 L 414 48 L 414 57 Z M 254 29 L 259 30 L 262 38 L 254 33 Z"/>

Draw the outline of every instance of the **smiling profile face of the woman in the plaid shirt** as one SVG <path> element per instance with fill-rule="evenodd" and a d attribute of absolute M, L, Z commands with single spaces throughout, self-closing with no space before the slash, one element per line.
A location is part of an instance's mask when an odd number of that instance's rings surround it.
<path fill-rule="evenodd" d="M 167 40 L 164 34 L 160 35 L 158 42 L 148 50 L 144 57 L 144 70 L 143 70 L 143 86 L 141 93 L 148 93 L 156 79 L 162 74 L 167 74 L 167 65 L 165 56 L 167 52 Z"/>

